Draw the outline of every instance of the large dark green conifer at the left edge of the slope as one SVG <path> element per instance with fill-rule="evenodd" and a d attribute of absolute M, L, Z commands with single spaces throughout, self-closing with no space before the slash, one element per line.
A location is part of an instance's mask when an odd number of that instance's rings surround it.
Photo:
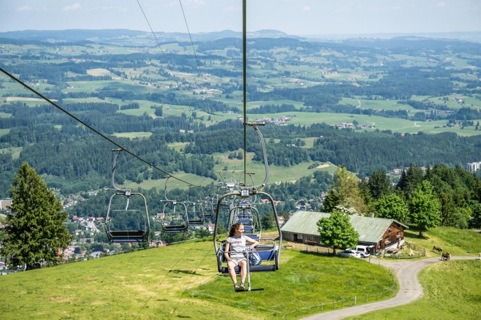
<path fill-rule="evenodd" d="M 26 162 L 14 177 L 10 194 L 12 211 L 5 220 L 0 254 L 9 265 L 26 265 L 27 270 L 55 265 L 58 252 L 71 240 L 62 204 Z"/>

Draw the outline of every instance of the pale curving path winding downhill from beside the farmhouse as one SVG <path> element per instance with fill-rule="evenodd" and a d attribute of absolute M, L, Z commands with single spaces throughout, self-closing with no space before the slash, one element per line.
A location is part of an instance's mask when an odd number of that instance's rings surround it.
<path fill-rule="evenodd" d="M 473 256 L 452 256 L 451 258 L 453 260 L 478 259 Z M 345 317 L 362 315 L 362 313 L 367 313 L 374 310 L 392 308 L 395 306 L 408 304 L 409 302 L 412 302 L 415 299 L 421 297 L 421 295 L 423 295 L 423 288 L 417 280 L 417 274 L 419 273 L 419 271 L 421 271 L 421 269 L 424 269 L 425 267 L 428 267 L 428 265 L 432 265 L 433 263 L 437 263 L 440 261 L 441 259 L 439 257 L 427 258 L 416 261 L 394 262 L 371 259 L 371 263 L 383 265 L 384 267 L 388 267 L 394 270 L 395 275 L 397 276 L 397 280 L 399 281 L 399 292 L 397 293 L 397 295 L 395 295 L 395 297 L 380 302 L 374 302 L 372 304 L 362 304 L 360 306 L 352 306 L 350 308 L 323 312 L 304 319 L 343 319 Z"/>

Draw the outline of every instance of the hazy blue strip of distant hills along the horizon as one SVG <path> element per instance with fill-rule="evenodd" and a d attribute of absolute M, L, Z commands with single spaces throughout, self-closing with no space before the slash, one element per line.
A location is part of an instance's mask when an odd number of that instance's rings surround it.
<path fill-rule="evenodd" d="M 156 31 L 156 36 L 162 42 L 188 41 L 188 34 L 182 32 Z M 434 39 L 458 39 L 470 42 L 481 42 L 481 31 L 471 32 L 439 32 L 413 34 L 320 34 L 294 36 L 278 30 L 258 30 L 247 32 L 247 38 L 306 38 L 310 40 L 346 40 L 346 39 L 391 39 L 398 37 L 421 37 Z M 215 32 L 201 32 L 192 34 L 194 41 L 212 41 L 222 38 L 241 38 L 242 32 L 223 30 Z M 129 29 L 67 29 L 67 30 L 21 30 L 0 32 L 0 38 L 18 40 L 53 40 L 53 41 L 107 41 L 112 42 L 125 38 L 151 38 L 147 31 Z"/>

